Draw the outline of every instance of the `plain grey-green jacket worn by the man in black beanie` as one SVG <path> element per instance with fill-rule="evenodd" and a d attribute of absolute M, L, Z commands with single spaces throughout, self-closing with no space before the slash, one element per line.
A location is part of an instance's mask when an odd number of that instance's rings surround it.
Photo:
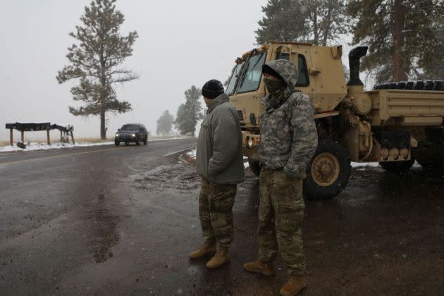
<path fill-rule="evenodd" d="M 239 116 L 227 94 L 216 97 L 206 111 L 197 138 L 196 169 L 215 184 L 244 180 Z"/>

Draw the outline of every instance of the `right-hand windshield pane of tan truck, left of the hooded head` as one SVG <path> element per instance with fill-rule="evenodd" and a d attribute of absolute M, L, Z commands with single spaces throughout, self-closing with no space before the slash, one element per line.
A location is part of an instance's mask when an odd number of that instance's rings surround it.
<path fill-rule="evenodd" d="M 251 92 L 259 88 L 261 82 L 262 65 L 264 65 L 266 51 L 249 58 L 245 70 L 240 78 L 238 93 Z"/>

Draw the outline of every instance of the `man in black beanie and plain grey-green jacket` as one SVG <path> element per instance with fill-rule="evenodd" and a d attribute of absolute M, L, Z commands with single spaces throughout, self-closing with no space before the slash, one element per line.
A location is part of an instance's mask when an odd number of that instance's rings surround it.
<path fill-rule="evenodd" d="M 202 176 L 199 218 L 204 243 L 190 259 L 214 255 L 206 267 L 216 269 L 230 260 L 232 208 L 237 184 L 244 180 L 242 134 L 238 113 L 220 81 L 206 82 L 202 96 L 208 111 L 197 139 L 196 168 Z"/>

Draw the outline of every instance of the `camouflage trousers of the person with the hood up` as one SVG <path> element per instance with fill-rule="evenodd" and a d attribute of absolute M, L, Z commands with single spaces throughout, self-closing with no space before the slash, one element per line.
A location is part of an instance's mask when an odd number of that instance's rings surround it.
<path fill-rule="evenodd" d="M 279 250 L 290 275 L 304 274 L 303 219 L 302 177 L 263 168 L 259 176 L 259 260 L 273 261 Z"/>

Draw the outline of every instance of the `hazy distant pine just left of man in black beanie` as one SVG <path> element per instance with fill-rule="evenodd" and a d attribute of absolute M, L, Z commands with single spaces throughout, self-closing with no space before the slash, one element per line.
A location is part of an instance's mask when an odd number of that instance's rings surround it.
<path fill-rule="evenodd" d="M 185 91 L 185 104 L 179 106 L 174 123 L 180 135 L 190 133 L 195 136 L 197 121 L 204 117 L 200 97 L 201 90 L 195 85 Z"/>

